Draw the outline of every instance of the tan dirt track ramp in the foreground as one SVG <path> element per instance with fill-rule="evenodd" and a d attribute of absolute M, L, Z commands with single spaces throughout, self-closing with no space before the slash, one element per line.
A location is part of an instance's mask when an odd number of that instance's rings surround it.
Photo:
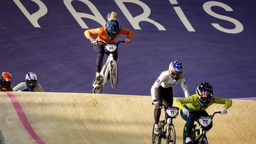
<path fill-rule="evenodd" d="M 154 106 L 149 96 L 29 92 L 14 95 L 44 143 L 152 143 Z M 0 103 L 3 141 L 35 143 L 5 93 L 0 93 Z M 208 112 L 220 109 L 221 105 L 215 104 Z M 209 143 L 255 143 L 255 111 L 256 101 L 233 100 L 227 115 L 214 117 Z M 177 143 L 182 143 L 184 124 L 180 116 L 174 120 Z"/>

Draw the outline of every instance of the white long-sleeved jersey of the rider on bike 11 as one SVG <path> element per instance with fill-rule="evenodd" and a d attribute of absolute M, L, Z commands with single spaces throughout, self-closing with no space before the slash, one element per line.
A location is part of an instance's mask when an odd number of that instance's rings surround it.
<path fill-rule="evenodd" d="M 186 85 L 186 81 L 183 75 L 176 81 L 170 76 L 168 70 L 162 72 L 160 76 L 158 76 L 158 78 L 156 79 L 154 85 L 152 85 L 151 87 L 152 99 L 156 100 L 156 89 L 158 89 L 160 85 L 163 88 L 168 88 L 168 87 L 175 87 L 177 84 L 181 85 L 185 97 L 188 97 L 189 96 L 188 86 Z"/>

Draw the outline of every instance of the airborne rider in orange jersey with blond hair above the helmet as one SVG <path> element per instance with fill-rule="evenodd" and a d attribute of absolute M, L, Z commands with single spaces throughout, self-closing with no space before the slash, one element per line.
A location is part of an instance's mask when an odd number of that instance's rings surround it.
<path fill-rule="evenodd" d="M 106 44 L 114 44 L 118 35 L 124 34 L 127 35 L 125 44 L 130 43 L 130 39 L 133 36 L 133 32 L 130 29 L 124 29 L 120 27 L 118 20 L 115 18 L 117 15 L 116 12 L 111 12 L 108 14 L 108 21 L 104 27 L 98 27 L 96 29 L 87 29 L 85 31 L 85 37 L 91 41 L 94 48 L 94 51 L 98 54 L 96 59 L 96 81 L 101 83 L 100 70 L 102 68 L 102 61 L 104 58 L 104 45 L 99 44 L 96 41 L 104 41 Z M 92 35 L 98 35 L 96 39 L 92 38 Z M 115 61 L 117 60 L 117 53 L 114 54 Z"/>

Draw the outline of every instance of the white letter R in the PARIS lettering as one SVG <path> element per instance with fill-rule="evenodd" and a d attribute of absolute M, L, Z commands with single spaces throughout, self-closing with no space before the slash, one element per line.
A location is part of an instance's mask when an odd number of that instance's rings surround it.
<path fill-rule="evenodd" d="M 166 30 L 165 27 L 163 27 L 159 23 L 156 23 L 156 21 L 148 18 L 148 16 L 150 16 L 151 10 L 145 3 L 143 3 L 139 0 L 115 0 L 115 3 L 117 3 L 119 8 L 124 13 L 124 16 L 126 16 L 126 18 L 129 20 L 130 24 L 132 25 L 132 27 L 134 29 L 141 29 L 141 27 L 139 27 L 139 22 L 146 21 L 146 22 L 149 22 L 149 23 L 152 23 L 153 25 L 155 25 L 160 31 Z M 139 6 L 141 6 L 141 8 L 143 8 L 143 14 L 133 17 L 130 14 L 130 12 L 128 11 L 128 9 L 126 8 L 126 6 L 124 5 L 124 3 L 135 3 Z"/>

